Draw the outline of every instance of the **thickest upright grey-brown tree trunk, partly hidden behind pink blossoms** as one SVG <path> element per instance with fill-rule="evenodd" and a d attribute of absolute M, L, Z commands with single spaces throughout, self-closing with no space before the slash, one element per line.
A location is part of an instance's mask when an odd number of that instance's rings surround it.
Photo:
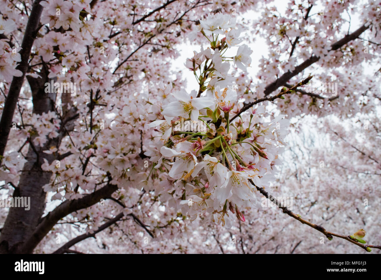
<path fill-rule="evenodd" d="M 45 78 L 28 77 L 33 96 L 33 112 L 39 115 L 54 110 L 56 100 L 56 93 L 45 93 L 47 73 L 43 69 L 40 74 L 43 74 Z M 43 172 L 41 165 L 44 162 L 43 158 L 46 158 L 49 163 L 55 158 L 53 154 L 45 154 L 43 151 L 51 146 L 58 147 L 62 134 L 55 139 L 48 139 L 42 147 L 32 144 L 34 137 L 36 136 L 30 137 L 27 162 L 24 165 L 24 171 L 21 172 L 19 185 L 13 192 L 13 197 L 30 197 L 30 210 L 22 207 L 10 208 L 0 235 L 0 253 L 29 253 L 19 251 L 19 248 L 37 227 L 45 210 L 46 193 L 42 186 L 50 182 L 52 174 Z"/>

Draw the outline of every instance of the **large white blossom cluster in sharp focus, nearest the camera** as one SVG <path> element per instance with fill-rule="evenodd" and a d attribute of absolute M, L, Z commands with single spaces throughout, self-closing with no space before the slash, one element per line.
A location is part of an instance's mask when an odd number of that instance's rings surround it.
<path fill-rule="evenodd" d="M 191 220 L 209 214 L 213 222 L 230 228 L 234 216 L 245 221 L 244 208 L 256 205 L 256 187 L 269 186 L 285 145 L 288 120 L 283 115 L 267 120 L 265 107 L 257 106 L 230 123 L 242 107 L 229 72 L 231 62 L 246 70 L 252 51 L 238 45 L 241 30 L 229 15 L 217 13 L 200 20 L 200 32 L 210 46 L 186 61 L 199 91 L 165 89 L 171 102 L 162 106 L 159 120 L 148 125 L 156 127 L 162 142 L 145 154 L 171 181 L 184 185 L 179 202 L 183 214 Z M 226 54 L 234 47 L 232 56 Z M 208 130 L 173 131 L 181 118 L 201 121 Z"/>

